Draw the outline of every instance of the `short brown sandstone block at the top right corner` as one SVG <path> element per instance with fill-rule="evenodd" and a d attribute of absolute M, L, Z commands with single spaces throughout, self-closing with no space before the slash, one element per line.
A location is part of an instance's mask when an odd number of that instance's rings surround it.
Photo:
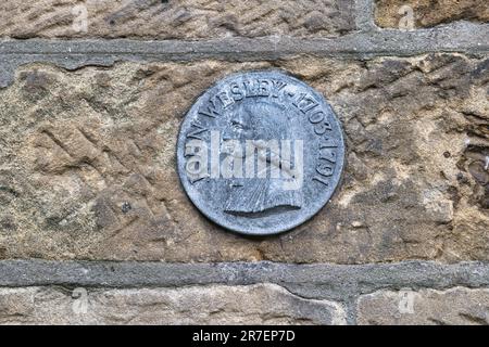
<path fill-rule="evenodd" d="M 455 21 L 489 22 L 486 0 L 376 0 L 375 20 L 380 27 L 399 28 L 402 18 L 409 18 L 411 14 L 414 28 Z"/>

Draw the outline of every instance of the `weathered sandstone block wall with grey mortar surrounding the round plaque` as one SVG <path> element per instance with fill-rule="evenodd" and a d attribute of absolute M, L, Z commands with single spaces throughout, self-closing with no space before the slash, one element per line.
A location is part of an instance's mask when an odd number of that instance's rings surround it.
<path fill-rule="evenodd" d="M 0 323 L 489 323 L 485 0 L 0 3 Z M 330 102 L 347 164 L 310 221 L 243 237 L 179 185 L 224 76 Z"/>

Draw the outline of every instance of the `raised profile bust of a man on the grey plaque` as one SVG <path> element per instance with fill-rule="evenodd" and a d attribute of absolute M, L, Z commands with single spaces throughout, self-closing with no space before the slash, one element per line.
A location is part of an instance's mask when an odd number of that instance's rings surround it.
<path fill-rule="evenodd" d="M 251 154 L 255 167 L 251 169 L 253 175 L 247 176 L 244 180 L 231 180 L 224 206 L 227 213 L 256 214 L 275 207 L 300 208 L 300 192 L 288 192 L 284 189 L 285 180 L 294 174 L 290 169 L 290 157 L 281 158 L 278 145 L 280 141 L 292 140 L 289 132 L 290 125 L 286 114 L 273 104 L 244 103 L 230 114 L 223 140 L 238 140 L 243 146 L 239 153 L 244 154 L 246 159 L 250 159 Z M 248 141 L 252 149 L 250 153 Z M 228 153 L 238 157 L 233 151 Z M 280 163 L 288 165 L 280 166 Z M 281 177 L 272 177 L 272 170 L 283 170 Z M 248 169 L 246 171 L 248 175 Z"/>

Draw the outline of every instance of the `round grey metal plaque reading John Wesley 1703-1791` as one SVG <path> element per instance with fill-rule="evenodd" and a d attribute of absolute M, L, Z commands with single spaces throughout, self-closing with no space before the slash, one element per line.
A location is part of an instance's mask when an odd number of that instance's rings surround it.
<path fill-rule="evenodd" d="M 208 218 L 268 235 L 314 216 L 331 197 L 344 157 L 326 100 L 284 73 L 230 75 L 201 95 L 181 124 L 181 184 Z"/>

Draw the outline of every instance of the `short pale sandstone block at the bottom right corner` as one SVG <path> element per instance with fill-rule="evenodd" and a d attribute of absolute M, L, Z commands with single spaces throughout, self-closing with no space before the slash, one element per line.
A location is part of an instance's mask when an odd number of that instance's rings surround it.
<path fill-rule="evenodd" d="M 489 290 L 381 291 L 360 297 L 358 314 L 359 324 L 488 325 Z"/>

